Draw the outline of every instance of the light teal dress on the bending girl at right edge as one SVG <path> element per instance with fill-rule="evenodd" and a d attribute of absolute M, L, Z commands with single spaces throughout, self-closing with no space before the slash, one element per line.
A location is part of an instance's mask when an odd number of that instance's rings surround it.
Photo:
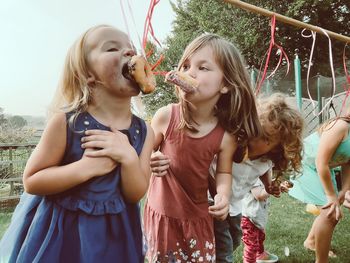
<path fill-rule="evenodd" d="M 304 139 L 302 175 L 292 180 L 294 186 L 289 190 L 289 195 L 304 203 L 324 205 L 327 203 L 327 198 L 315 164 L 319 144 L 320 136 L 318 132 L 312 133 Z M 350 161 L 350 135 L 339 144 L 332 156 L 330 166 L 333 167 L 336 164 L 348 161 Z M 331 169 L 331 178 L 334 189 L 337 189 L 334 169 Z"/>

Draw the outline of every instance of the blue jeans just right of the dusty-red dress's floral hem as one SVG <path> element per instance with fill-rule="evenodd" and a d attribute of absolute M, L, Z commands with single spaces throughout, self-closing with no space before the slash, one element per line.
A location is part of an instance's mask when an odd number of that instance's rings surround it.
<path fill-rule="evenodd" d="M 233 252 L 241 243 L 242 215 L 227 216 L 224 221 L 214 219 L 216 262 L 233 262 Z"/>

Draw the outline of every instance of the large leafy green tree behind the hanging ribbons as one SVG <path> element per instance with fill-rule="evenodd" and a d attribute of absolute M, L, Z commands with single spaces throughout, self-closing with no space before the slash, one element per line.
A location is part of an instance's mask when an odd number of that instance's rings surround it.
<path fill-rule="evenodd" d="M 350 35 L 350 1 L 247 0 L 246 2 L 343 35 Z M 186 45 L 204 32 L 216 33 L 232 41 L 241 50 L 248 65 L 260 68 L 270 42 L 269 18 L 239 9 L 221 0 L 177 0 L 176 4 L 172 4 L 172 8 L 176 18 L 172 33 L 166 39 L 166 48 L 161 50 L 165 54 L 161 70 L 172 69 L 172 65 L 178 63 Z M 291 61 L 295 50 L 298 49 L 305 75 L 311 39 L 302 37 L 301 29 L 291 25 L 277 21 L 276 26 L 276 42 L 284 48 Z M 332 43 L 335 67 L 341 68 L 344 43 L 333 39 Z M 270 65 L 277 64 L 278 56 L 274 56 L 275 51 L 271 56 Z M 313 61 L 313 74 L 330 75 L 328 40 L 320 34 L 317 35 Z M 148 105 L 152 108 L 150 114 L 156 107 L 176 100 L 174 96 L 169 95 L 169 90 L 173 89 L 168 85 L 160 84 L 157 89 L 154 98 L 149 100 L 152 101 L 152 105 Z M 160 102 L 153 103 L 156 99 Z M 147 101 L 145 102 L 147 104 Z"/>

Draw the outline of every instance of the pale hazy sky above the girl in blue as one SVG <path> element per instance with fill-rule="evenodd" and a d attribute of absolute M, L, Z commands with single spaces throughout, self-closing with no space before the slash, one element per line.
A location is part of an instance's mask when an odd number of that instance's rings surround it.
<path fill-rule="evenodd" d="M 169 1 L 160 0 L 153 13 L 152 25 L 160 41 L 170 35 L 175 16 Z M 139 48 L 149 4 L 150 0 L 1 0 L 0 107 L 4 113 L 45 116 L 68 48 L 91 26 L 109 24 L 126 33 L 129 28 Z"/>

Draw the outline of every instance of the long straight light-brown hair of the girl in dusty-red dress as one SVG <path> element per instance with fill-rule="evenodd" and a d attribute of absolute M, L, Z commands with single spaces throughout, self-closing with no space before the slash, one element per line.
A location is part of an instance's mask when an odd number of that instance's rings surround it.
<path fill-rule="evenodd" d="M 227 40 L 215 34 L 203 34 L 194 39 L 185 49 L 178 65 L 181 70 L 184 62 L 197 50 L 209 46 L 217 64 L 224 75 L 224 85 L 229 92 L 222 94 L 216 107 L 215 115 L 219 124 L 229 133 L 238 138 L 238 143 L 246 148 L 247 140 L 257 137 L 262 129 L 259 123 L 255 96 L 250 78 L 245 68 L 245 62 L 238 49 Z M 178 91 L 177 91 L 178 93 Z M 191 117 L 189 102 L 179 96 L 181 105 L 181 121 L 179 128 L 197 131 Z"/>

